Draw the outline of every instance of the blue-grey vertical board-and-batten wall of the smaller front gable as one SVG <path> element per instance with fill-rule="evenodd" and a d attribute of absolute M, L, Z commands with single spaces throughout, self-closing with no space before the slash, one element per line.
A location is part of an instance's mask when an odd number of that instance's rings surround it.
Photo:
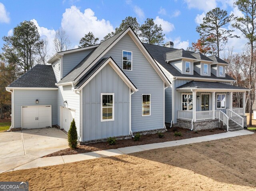
<path fill-rule="evenodd" d="M 83 141 L 130 134 L 130 88 L 106 65 L 83 89 Z M 114 121 L 101 122 L 101 93 L 114 93 Z"/>

